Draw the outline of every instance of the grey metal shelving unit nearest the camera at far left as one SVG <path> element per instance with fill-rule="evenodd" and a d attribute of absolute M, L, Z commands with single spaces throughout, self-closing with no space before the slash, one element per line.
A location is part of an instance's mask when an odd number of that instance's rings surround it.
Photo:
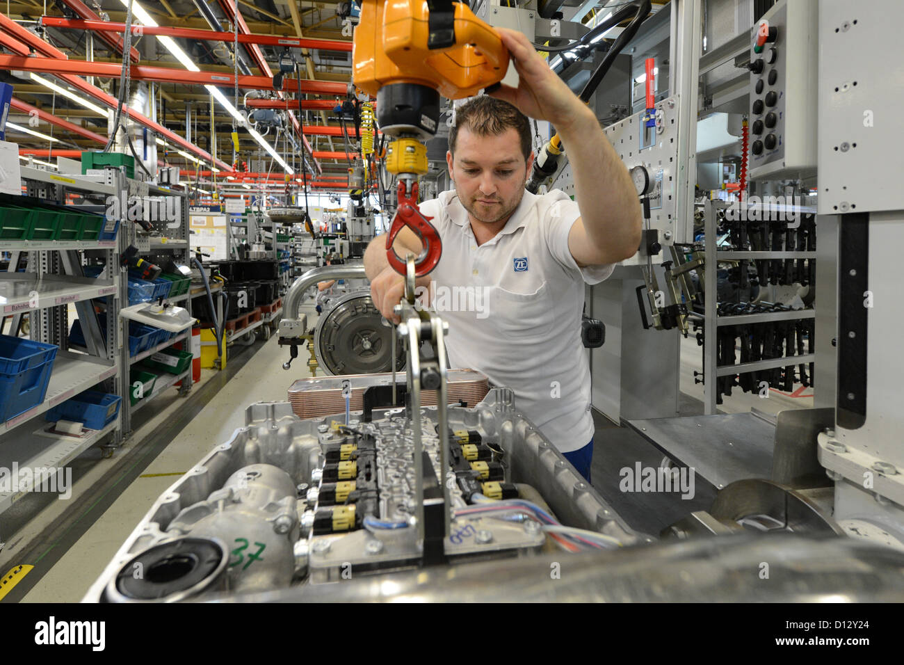
<path fill-rule="evenodd" d="M 68 204 L 71 195 L 80 201 L 74 207 L 107 209 L 106 200 L 123 185 L 114 172 L 108 182 L 98 183 L 84 176 L 56 174 L 22 166 L 26 194 Z M 120 218 L 119 237 L 127 227 Z M 33 468 L 37 483 L 91 446 L 122 441 L 122 411 L 99 431 L 85 430 L 80 436 L 47 432 L 52 423 L 41 417 L 49 409 L 98 384 L 110 394 L 124 394 L 118 354 L 118 308 L 125 280 L 105 271 L 98 278 L 85 277 L 85 256 L 94 256 L 107 265 L 119 264 L 121 240 L 95 241 L 4 241 L 9 252 L 8 271 L 0 272 L 0 316 L 5 334 L 18 337 L 24 316 L 29 319 L 29 337 L 59 347 L 53 362 L 47 392 L 41 404 L 0 423 L 0 466 Z M 25 271 L 17 271 L 24 258 Z M 91 300 L 108 299 L 106 334 L 101 331 Z M 82 321 L 86 353 L 68 350 L 69 307 L 74 305 Z M 6 323 L 9 323 L 7 327 Z M 0 512 L 22 497 L 28 488 L 0 492 Z"/>

